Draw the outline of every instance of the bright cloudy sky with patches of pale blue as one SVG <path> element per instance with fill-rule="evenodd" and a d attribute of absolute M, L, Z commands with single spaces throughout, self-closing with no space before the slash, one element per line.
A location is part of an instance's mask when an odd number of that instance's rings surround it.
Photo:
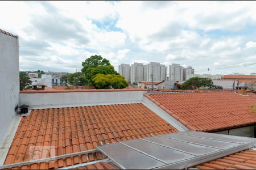
<path fill-rule="evenodd" d="M 19 36 L 20 70 L 81 70 L 94 54 L 120 63 L 256 73 L 256 2 L 3 1 L 0 28 Z"/>

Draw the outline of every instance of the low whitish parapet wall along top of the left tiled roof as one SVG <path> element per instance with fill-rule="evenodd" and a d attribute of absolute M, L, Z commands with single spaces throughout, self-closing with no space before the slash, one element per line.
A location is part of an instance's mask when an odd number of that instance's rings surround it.
<path fill-rule="evenodd" d="M 143 100 L 146 91 L 110 91 L 110 92 L 54 92 L 21 93 L 20 105 L 29 105 L 29 109 L 76 107 L 85 105 L 138 103 Z"/>

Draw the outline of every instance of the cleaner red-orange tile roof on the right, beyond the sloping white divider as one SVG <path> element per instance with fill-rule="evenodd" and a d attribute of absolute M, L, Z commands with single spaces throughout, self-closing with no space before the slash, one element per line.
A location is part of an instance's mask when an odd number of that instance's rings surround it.
<path fill-rule="evenodd" d="M 146 95 L 190 130 L 217 131 L 256 124 L 249 105 L 256 99 L 234 92 L 178 92 Z"/>

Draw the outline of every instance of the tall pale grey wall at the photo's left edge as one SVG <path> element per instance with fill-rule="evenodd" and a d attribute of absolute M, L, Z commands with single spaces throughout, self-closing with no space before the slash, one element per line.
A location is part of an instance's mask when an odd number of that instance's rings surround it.
<path fill-rule="evenodd" d="M 5 138 L 14 108 L 19 102 L 19 42 L 18 37 L 0 31 L 0 144 Z"/>

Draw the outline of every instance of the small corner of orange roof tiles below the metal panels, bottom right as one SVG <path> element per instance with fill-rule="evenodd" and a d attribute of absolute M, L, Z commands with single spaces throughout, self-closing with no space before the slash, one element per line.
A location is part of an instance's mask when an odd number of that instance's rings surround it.
<path fill-rule="evenodd" d="M 256 169 L 256 151 L 245 150 L 197 165 L 199 169 Z"/>

